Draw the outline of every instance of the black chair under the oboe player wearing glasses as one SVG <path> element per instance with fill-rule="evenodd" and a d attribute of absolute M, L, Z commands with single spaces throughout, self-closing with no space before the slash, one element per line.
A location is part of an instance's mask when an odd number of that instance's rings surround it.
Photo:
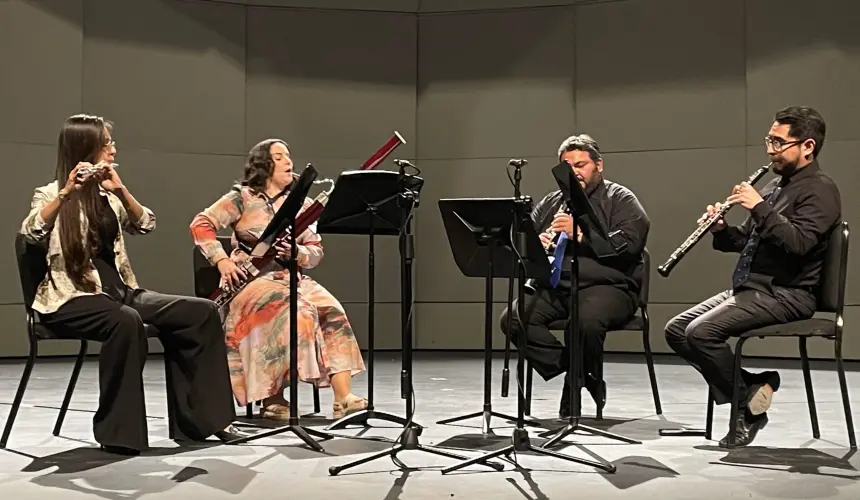
<path fill-rule="evenodd" d="M 735 381 L 741 377 L 741 358 L 744 343 L 747 340 L 758 337 L 798 337 L 800 348 L 800 363 L 803 369 L 803 381 L 806 385 L 806 400 L 809 405 L 809 418 L 812 422 L 812 436 L 815 439 L 821 437 L 818 429 L 818 413 L 815 408 L 815 396 L 812 392 L 812 378 L 809 373 L 809 358 L 806 353 L 806 341 L 810 337 L 819 337 L 834 342 L 834 357 L 836 358 L 836 369 L 839 373 L 839 386 L 842 391 L 842 406 L 845 410 L 845 425 L 848 428 L 848 441 L 851 449 L 857 448 L 854 437 L 854 421 L 851 417 L 851 403 L 848 398 L 848 384 L 845 380 L 845 364 L 842 361 L 842 330 L 843 310 L 845 308 L 845 277 L 848 273 L 848 223 L 842 222 L 841 226 L 835 228 L 830 234 L 827 244 L 827 253 L 824 257 L 824 268 L 821 271 L 821 283 L 818 289 L 817 312 L 832 313 L 833 319 L 811 318 L 801 321 L 792 321 L 765 328 L 750 330 L 738 338 L 735 346 Z M 710 437 L 713 428 L 714 399 L 708 397 L 708 412 L 706 422 L 706 433 Z M 735 427 L 739 411 L 738 391 L 734 390 L 732 397 L 731 420 L 729 420 L 729 442 L 728 447 L 734 448 Z"/>

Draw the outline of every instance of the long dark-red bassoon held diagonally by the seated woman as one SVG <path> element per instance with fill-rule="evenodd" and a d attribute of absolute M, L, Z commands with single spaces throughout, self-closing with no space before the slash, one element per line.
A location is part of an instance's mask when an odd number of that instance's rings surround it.
<path fill-rule="evenodd" d="M 395 131 L 394 135 L 391 136 L 388 141 L 382 145 L 373 155 L 368 158 L 362 165 L 359 167 L 359 170 L 373 170 L 380 163 L 382 163 L 385 158 L 388 157 L 395 149 L 397 149 L 401 144 L 406 144 L 406 140 L 403 139 L 403 136 L 400 135 L 399 132 Z M 331 183 L 331 187 L 322 193 L 318 194 L 316 198 L 314 198 L 313 202 L 308 206 L 308 208 L 304 209 L 301 213 L 296 216 L 295 222 L 295 230 L 296 237 L 301 235 L 305 230 L 307 230 L 311 225 L 313 225 L 316 221 L 319 220 L 322 215 L 323 209 L 328 203 L 328 197 L 331 194 L 332 190 L 334 190 L 334 181 L 330 179 L 324 179 L 319 181 L 314 181 L 314 184 L 329 182 Z M 290 236 L 289 229 L 285 230 L 281 234 L 275 238 L 272 245 L 266 249 L 266 251 L 259 256 L 251 256 L 251 258 L 246 259 L 237 264 L 239 269 L 245 272 L 245 277 L 242 278 L 239 286 L 234 286 L 228 289 L 224 287 L 219 287 L 215 293 L 209 296 L 209 300 L 215 302 L 218 306 L 219 310 L 223 312 L 226 311 L 226 307 L 230 304 L 236 295 L 239 294 L 248 283 L 256 279 L 260 276 L 260 269 L 263 269 L 267 265 L 269 265 L 272 260 L 277 256 L 277 247 L 282 242 L 287 241 Z M 258 242 L 259 244 L 259 242 Z M 255 248 L 256 250 L 256 248 Z M 253 254 L 253 252 L 252 252 Z"/>

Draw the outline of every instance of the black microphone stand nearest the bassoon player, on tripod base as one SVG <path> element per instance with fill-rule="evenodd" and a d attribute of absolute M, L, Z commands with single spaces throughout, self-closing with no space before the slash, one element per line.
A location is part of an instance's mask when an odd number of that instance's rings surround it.
<path fill-rule="evenodd" d="M 387 456 L 392 457 L 392 460 L 395 460 L 395 463 L 398 463 L 398 465 L 402 465 L 402 463 L 396 458 L 397 454 L 401 451 L 408 450 L 423 451 L 457 460 L 464 460 L 466 458 L 448 451 L 422 445 L 418 439 L 421 435 L 422 427 L 412 423 L 412 397 L 414 396 L 414 390 L 412 387 L 412 260 L 414 258 L 414 245 L 412 241 L 411 221 L 412 210 L 418 205 L 418 195 L 421 191 L 421 187 L 424 185 L 424 179 L 414 175 L 405 174 L 404 167 L 408 162 L 398 160 L 395 160 L 395 162 L 400 165 L 399 172 L 372 171 L 368 173 L 376 174 L 376 176 L 380 178 L 389 179 L 385 181 L 389 183 L 391 182 L 391 179 L 393 179 L 398 188 L 395 206 L 400 211 L 400 218 L 398 220 L 402 221 L 402 226 L 398 227 L 398 230 L 402 228 L 402 231 L 400 232 L 400 293 L 402 321 L 401 348 L 403 349 L 403 357 L 402 372 L 400 375 L 400 396 L 406 400 L 406 423 L 403 427 L 403 432 L 400 433 L 394 446 L 345 465 L 331 466 L 329 467 L 328 472 L 332 476 L 340 474 L 343 470 Z M 411 164 L 408 165 L 412 166 Z M 415 167 L 413 166 L 413 168 Z M 395 176 L 392 177 L 391 174 L 395 174 Z M 495 468 L 496 470 L 503 469 L 501 464 L 487 465 Z"/>

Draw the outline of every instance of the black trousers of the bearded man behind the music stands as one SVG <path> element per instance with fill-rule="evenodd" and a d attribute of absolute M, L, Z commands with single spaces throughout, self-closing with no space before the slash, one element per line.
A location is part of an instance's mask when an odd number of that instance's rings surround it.
<path fill-rule="evenodd" d="M 525 296 L 525 318 L 522 323 L 526 330 L 525 356 L 535 371 L 550 380 L 567 372 L 569 352 L 547 328 L 555 321 L 570 317 L 570 289 L 538 288 L 534 294 Z M 517 301 L 513 302 L 514 317 L 511 322 L 511 342 L 516 346 L 522 333 L 517 321 Z M 603 341 L 606 332 L 626 323 L 636 313 L 636 303 L 630 292 L 613 286 L 591 286 L 579 290 L 579 333 L 583 339 L 582 353 L 584 373 L 597 376 L 601 373 Z M 508 325 L 508 311 L 502 313 L 501 327 Z"/>

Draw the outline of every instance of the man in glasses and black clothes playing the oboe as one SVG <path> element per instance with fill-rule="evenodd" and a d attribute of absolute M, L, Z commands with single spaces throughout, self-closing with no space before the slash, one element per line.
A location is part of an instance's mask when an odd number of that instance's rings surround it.
<path fill-rule="evenodd" d="M 778 175 L 759 193 L 737 185 L 726 200 L 749 211 L 743 224 L 717 221 L 713 246 L 739 252 L 730 289 L 672 318 L 666 340 L 696 368 L 717 404 L 732 399 L 734 356 L 730 337 L 773 324 L 812 317 L 827 240 L 841 220 L 839 189 L 818 166 L 825 123 L 812 108 L 791 106 L 774 118 L 765 137 L 772 170 Z M 720 210 L 708 205 L 704 223 Z M 746 446 L 767 424 L 779 374 L 743 371 L 738 381 L 740 412 L 735 444 Z M 728 435 L 720 441 L 725 447 Z"/>

